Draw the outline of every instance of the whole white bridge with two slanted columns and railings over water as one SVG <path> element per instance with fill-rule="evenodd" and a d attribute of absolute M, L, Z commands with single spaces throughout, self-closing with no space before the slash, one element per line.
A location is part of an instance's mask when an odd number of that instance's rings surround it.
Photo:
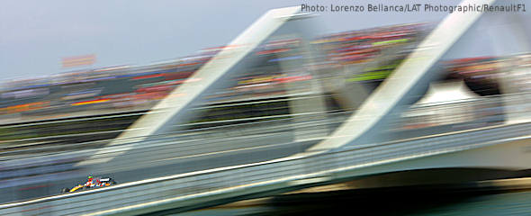
<path fill-rule="evenodd" d="M 354 111 L 327 112 L 323 105 L 323 89 L 327 86 L 309 81 L 306 85 L 311 91 L 306 94 L 296 94 L 296 86 L 286 85 L 286 92 L 291 94 L 283 100 L 290 105 L 290 113 L 284 116 L 175 131 L 175 127 L 184 127 L 193 118 L 190 110 L 204 103 L 206 95 L 226 85 L 231 75 L 245 70 L 251 50 L 270 37 L 306 35 L 300 29 L 311 14 L 300 14 L 298 9 L 278 9 L 262 16 L 191 77 L 201 82 L 175 89 L 118 138 L 94 141 L 90 144 L 98 148 L 80 151 L 54 147 L 55 153 L 48 155 L 37 154 L 34 149 L 21 150 L 2 164 L 4 176 L 17 175 L 17 167 L 35 160 L 46 166 L 24 171 L 65 170 L 62 179 L 49 190 L 59 191 L 60 185 L 71 184 L 82 173 L 113 175 L 127 179 L 127 183 L 35 197 L 32 193 L 42 192 L 38 188 L 23 193 L 20 185 L 11 182 L 12 186 L 4 184 L 0 192 L 18 195 L 23 201 L 3 198 L 8 203 L 0 205 L 0 213 L 170 213 L 408 170 L 529 169 L 531 95 L 511 91 L 509 82 L 500 95 L 410 105 L 419 100 L 419 94 L 437 75 L 437 61 L 480 19 L 480 13 L 450 15 L 372 94 L 349 98 L 345 91 L 356 86 L 334 89 L 343 95 L 339 100 L 351 103 Z M 280 67 L 291 71 L 302 64 L 292 62 Z M 364 102 L 356 103 L 360 99 Z M 448 111 L 455 112 L 448 116 Z M 439 124 L 405 129 L 408 122 L 426 121 L 426 115 Z M 61 163 L 54 162 L 58 158 Z M 494 173 L 497 178 L 514 175 Z"/>

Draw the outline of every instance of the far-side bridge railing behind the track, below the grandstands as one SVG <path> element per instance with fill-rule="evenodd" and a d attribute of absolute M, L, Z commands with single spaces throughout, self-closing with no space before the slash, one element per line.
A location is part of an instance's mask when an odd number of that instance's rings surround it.
<path fill-rule="evenodd" d="M 411 117 L 401 117 L 397 116 L 397 121 L 393 122 L 392 129 L 400 129 L 401 127 L 408 127 L 410 124 L 419 124 L 426 122 L 434 122 L 435 124 L 451 124 L 455 122 L 464 122 L 464 121 L 473 121 L 478 119 L 488 119 L 500 117 L 502 112 L 531 112 L 531 105 L 527 101 L 521 101 L 522 97 L 531 98 L 531 93 L 519 93 L 519 94 L 504 94 L 503 100 L 509 101 L 513 104 L 512 106 L 501 106 L 502 97 L 499 95 L 482 97 L 473 100 L 457 101 L 454 103 L 448 104 L 425 104 L 422 106 L 414 105 L 405 113 L 421 113 L 413 118 Z M 481 108 L 482 106 L 486 108 Z M 495 110 L 496 109 L 496 110 Z M 504 109 L 506 109 L 504 111 Z M 451 115 L 445 115 L 447 110 L 459 110 L 457 113 L 452 113 Z M 489 110 L 494 110 L 491 112 Z M 439 113 L 440 112 L 440 113 Z M 490 113 L 485 113 L 490 112 Z M 325 113 L 325 112 L 309 112 L 301 114 L 286 114 L 286 115 L 275 115 L 268 116 L 264 118 L 249 118 L 241 119 L 238 121 L 251 121 L 247 123 L 238 123 L 238 124 L 229 124 L 229 125 L 220 125 L 209 128 L 200 128 L 193 130 L 178 130 L 176 132 L 171 132 L 167 134 L 151 136 L 149 139 L 154 141 L 164 140 L 171 141 L 179 139 L 197 139 L 197 138 L 206 138 L 209 139 L 219 139 L 219 138 L 234 138 L 235 136 L 240 135 L 251 135 L 251 134 L 264 134 L 266 132 L 276 132 L 276 131 L 287 131 L 287 130 L 302 130 L 307 127 L 314 127 L 319 125 L 320 127 L 329 127 L 331 124 L 340 124 L 348 116 L 352 115 L 354 112 L 335 112 L 335 113 Z M 424 114 L 422 114 L 424 113 Z M 306 117 L 313 116 L 316 114 L 327 115 L 328 119 L 324 121 L 312 121 L 311 125 L 300 125 L 301 123 L 292 122 L 291 118 L 294 116 Z M 270 120 L 273 119 L 273 120 Z M 216 123 L 227 123 L 228 121 L 219 121 Z M 207 122 L 212 123 L 212 122 Z M 175 125 L 175 127 L 184 127 L 186 125 Z M 333 130 L 333 128 L 329 128 Z M 114 132 L 114 131 L 112 131 Z M 107 131 L 102 131 L 102 133 L 108 133 Z M 68 135 L 69 136 L 69 135 Z M 60 136 L 64 137 L 64 136 Z M 42 156 L 44 151 L 49 152 L 49 155 L 55 155 L 60 151 L 67 150 L 78 150 L 78 148 L 85 148 L 86 146 L 102 146 L 105 143 L 111 141 L 112 139 L 103 139 L 96 141 L 88 141 L 82 143 L 72 143 L 67 146 L 34 146 L 27 147 L 25 146 L 22 149 L 14 148 L 9 150 L 4 150 L 0 152 L 0 161 L 17 158 L 17 154 L 28 154 L 33 152 L 40 152 L 39 156 Z M 128 141 L 124 140 L 124 143 L 127 144 Z M 9 157 L 7 157 L 9 156 Z M 23 155 L 23 158 L 28 156 Z"/>

